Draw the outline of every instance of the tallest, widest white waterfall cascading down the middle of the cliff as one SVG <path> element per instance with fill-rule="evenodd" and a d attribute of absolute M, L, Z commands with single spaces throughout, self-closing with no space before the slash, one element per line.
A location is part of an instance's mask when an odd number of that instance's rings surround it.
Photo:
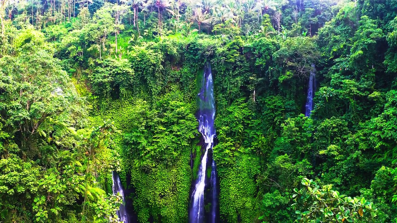
<path fill-rule="evenodd" d="M 209 64 L 204 68 L 204 76 L 201 82 L 199 98 L 199 110 L 197 112 L 198 131 L 202 134 L 204 155 L 202 156 L 200 165 L 198 167 L 197 179 L 193 187 L 191 196 L 191 206 L 189 209 L 189 222 L 202 223 L 217 222 L 218 213 L 218 192 L 217 192 L 217 173 L 216 164 L 212 159 L 212 147 L 214 146 L 215 127 L 215 102 L 214 102 L 214 88 L 212 82 L 211 66 Z M 210 160 L 212 160 L 210 179 L 206 177 L 206 169 L 208 161 L 208 152 L 210 152 Z M 210 193 L 205 190 L 210 188 Z M 206 198 L 204 199 L 204 196 Z M 210 197 L 210 198 L 209 198 Z M 205 212 L 205 202 L 210 202 L 209 212 Z"/>

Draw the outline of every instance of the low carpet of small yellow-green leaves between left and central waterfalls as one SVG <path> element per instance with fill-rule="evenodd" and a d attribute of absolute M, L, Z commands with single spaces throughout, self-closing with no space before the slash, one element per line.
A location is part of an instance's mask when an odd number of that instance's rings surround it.
<path fill-rule="evenodd" d="M 150 216 L 159 216 L 162 222 L 187 222 L 192 180 L 190 152 L 186 151 L 180 157 L 175 165 L 159 165 L 149 173 L 131 169 L 135 187 L 133 202 L 140 222 L 148 221 Z"/>

